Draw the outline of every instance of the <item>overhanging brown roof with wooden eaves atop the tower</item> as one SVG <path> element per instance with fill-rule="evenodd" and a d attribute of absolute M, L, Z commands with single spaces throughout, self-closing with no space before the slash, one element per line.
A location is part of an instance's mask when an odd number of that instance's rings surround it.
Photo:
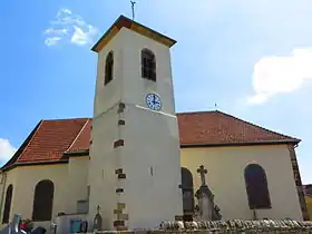
<path fill-rule="evenodd" d="M 172 47 L 176 43 L 176 41 L 172 38 L 168 38 L 150 28 L 147 28 L 134 20 L 130 20 L 129 18 L 125 16 L 120 16 L 113 26 L 104 33 L 104 36 L 96 42 L 96 45 L 91 48 L 92 51 L 98 52 L 107 45 L 114 37 L 117 35 L 117 32 L 121 28 L 127 28 L 131 31 L 135 31 L 137 33 L 140 33 L 147 38 L 150 38 L 159 43 L 163 43 L 167 47 Z"/>

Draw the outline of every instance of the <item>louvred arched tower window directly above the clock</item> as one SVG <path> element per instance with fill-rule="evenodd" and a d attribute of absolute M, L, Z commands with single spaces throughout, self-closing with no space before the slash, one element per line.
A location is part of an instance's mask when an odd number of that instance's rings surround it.
<path fill-rule="evenodd" d="M 140 62 L 142 62 L 142 77 L 145 79 L 156 81 L 155 55 L 148 49 L 142 50 Z"/>

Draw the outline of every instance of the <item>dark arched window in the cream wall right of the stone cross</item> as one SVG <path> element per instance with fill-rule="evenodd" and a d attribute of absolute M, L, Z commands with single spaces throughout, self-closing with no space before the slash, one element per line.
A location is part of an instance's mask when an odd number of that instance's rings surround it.
<path fill-rule="evenodd" d="M 260 165 L 250 164 L 246 166 L 245 183 L 250 208 L 271 208 L 266 175 Z"/>

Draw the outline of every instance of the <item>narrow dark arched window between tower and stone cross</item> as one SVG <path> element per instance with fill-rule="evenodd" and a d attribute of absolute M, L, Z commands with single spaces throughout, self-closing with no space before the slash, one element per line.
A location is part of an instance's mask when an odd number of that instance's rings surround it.
<path fill-rule="evenodd" d="M 183 212 L 184 214 L 194 213 L 194 187 L 193 175 L 189 169 L 182 167 L 182 192 L 183 192 Z"/>

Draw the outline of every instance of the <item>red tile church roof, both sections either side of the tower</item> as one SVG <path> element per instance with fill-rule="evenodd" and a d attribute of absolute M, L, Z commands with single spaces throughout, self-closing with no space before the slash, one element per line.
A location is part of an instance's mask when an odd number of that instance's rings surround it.
<path fill-rule="evenodd" d="M 182 147 L 300 142 L 221 111 L 181 113 L 177 119 Z M 90 118 L 41 120 L 2 168 L 62 160 L 67 154 L 87 152 L 90 131 Z"/>

